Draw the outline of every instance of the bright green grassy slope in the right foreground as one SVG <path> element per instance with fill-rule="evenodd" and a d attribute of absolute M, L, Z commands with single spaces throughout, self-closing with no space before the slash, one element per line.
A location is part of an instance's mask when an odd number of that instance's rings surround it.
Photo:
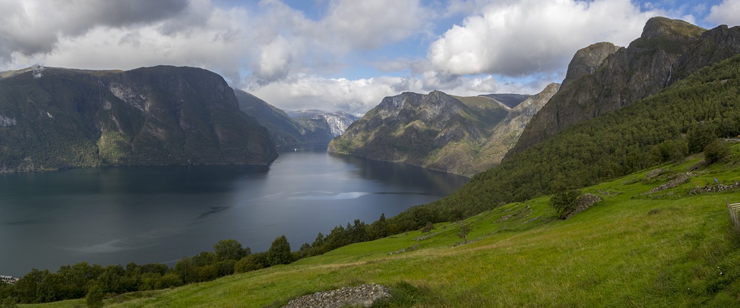
<path fill-rule="evenodd" d="M 602 202 L 565 221 L 554 219 L 543 196 L 467 219 L 468 244 L 454 246 L 462 242 L 458 225 L 445 222 L 427 239 L 420 231 L 402 233 L 121 303 L 112 298 L 106 307 L 280 307 L 320 290 L 400 281 L 418 288 L 414 307 L 737 307 L 740 236 L 724 200 L 740 202 L 740 191 L 688 194 L 713 185 L 714 177 L 740 181 L 740 145 L 731 150 L 691 171 L 689 182 L 653 195 L 641 194 L 700 157 L 585 188 Z"/>

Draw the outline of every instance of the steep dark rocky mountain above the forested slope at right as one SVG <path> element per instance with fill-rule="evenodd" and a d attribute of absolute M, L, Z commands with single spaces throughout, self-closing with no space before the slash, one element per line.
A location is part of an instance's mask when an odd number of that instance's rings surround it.
<path fill-rule="evenodd" d="M 559 92 L 528 123 L 507 157 L 574 123 L 655 95 L 704 66 L 740 52 L 740 27 L 713 30 L 650 18 L 640 38 L 616 49 L 599 43 L 576 52 Z"/>

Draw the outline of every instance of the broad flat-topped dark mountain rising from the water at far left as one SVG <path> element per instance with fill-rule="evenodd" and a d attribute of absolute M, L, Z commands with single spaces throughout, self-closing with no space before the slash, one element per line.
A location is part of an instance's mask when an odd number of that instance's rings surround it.
<path fill-rule="evenodd" d="M 38 76 L 38 78 L 36 76 Z M 0 171 L 268 164 L 267 130 L 221 76 L 191 67 L 0 74 Z"/>

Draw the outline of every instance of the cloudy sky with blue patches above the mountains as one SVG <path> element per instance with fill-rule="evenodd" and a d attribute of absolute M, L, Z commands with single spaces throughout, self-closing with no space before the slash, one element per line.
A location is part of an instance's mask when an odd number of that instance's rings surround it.
<path fill-rule="evenodd" d="M 0 0 L 0 70 L 199 66 L 282 109 L 363 114 L 404 91 L 534 94 L 653 16 L 732 27 L 740 0 Z"/>

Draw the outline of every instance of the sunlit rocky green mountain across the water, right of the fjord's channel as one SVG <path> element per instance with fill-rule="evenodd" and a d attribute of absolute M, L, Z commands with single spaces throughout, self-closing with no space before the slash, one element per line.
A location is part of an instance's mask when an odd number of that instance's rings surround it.
<path fill-rule="evenodd" d="M 383 101 L 329 143 L 329 151 L 472 175 L 497 165 L 557 84 L 514 109 L 487 96 L 404 92 Z"/>

